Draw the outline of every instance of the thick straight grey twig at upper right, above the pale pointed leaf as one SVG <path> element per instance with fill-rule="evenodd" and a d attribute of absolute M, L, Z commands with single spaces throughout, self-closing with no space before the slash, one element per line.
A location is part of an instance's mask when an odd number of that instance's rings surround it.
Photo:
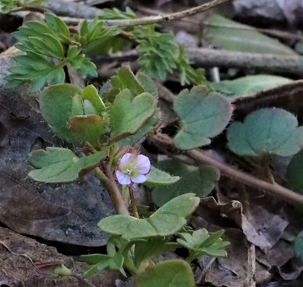
<path fill-rule="evenodd" d="M 196 66 L 259 68 L 262 71 L 303 75 L 303 56 L 243 53 L 192 47 L 186 48 L 185 54 Z"/>

